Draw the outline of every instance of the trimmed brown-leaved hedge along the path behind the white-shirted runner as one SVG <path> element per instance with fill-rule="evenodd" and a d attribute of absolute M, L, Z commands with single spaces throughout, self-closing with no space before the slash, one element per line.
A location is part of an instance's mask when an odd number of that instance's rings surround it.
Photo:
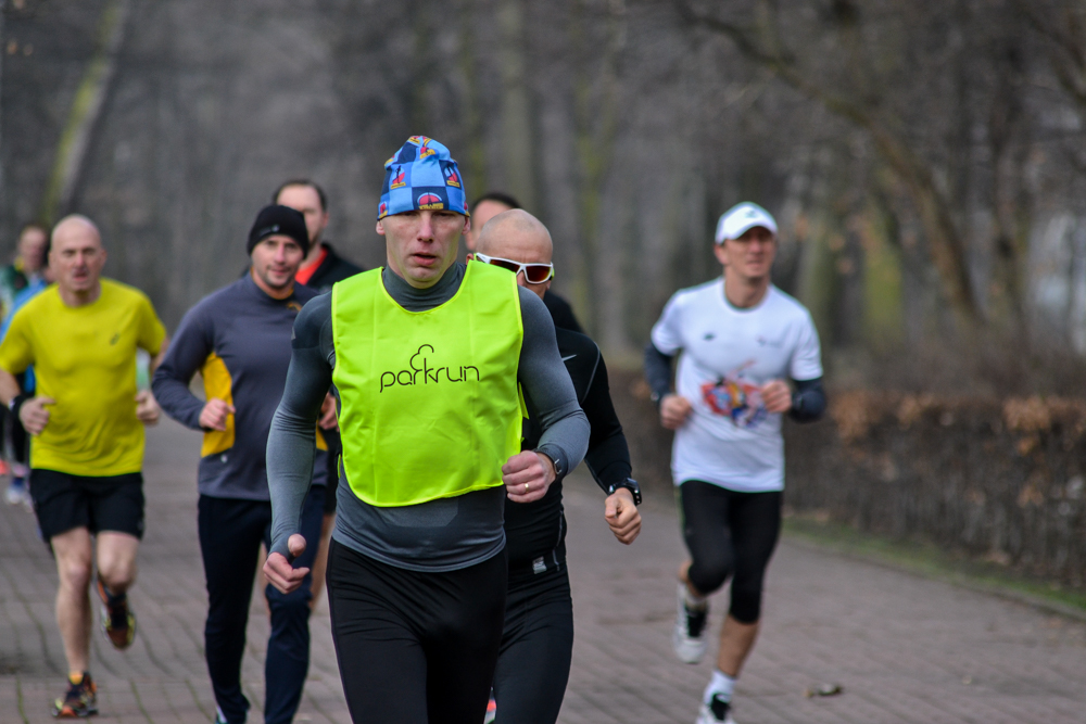
<path fill-rule="evenodd" d="M 634 475 L 662 490 L 671 435 L 640 374 L 613 377 Z M 792 510 L 1086 585 L 1086 399 L 831 392 L 785 444 Z"/>

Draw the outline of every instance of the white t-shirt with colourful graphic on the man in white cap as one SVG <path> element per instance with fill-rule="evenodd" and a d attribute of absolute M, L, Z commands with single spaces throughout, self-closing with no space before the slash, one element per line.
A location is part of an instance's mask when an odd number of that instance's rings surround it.
<path fill-rule="evenodd" d="M 703 480 L 744 493 L 784 490 L 781 415 L 759 388 L 774 379 L 822 377 L 818 331 L 799 302 L 770 285 L 756 307 L 738 309 L 724 281 L 683 289 L 653 327 L 653 344 L 682 353 L 675 392 L 693 411 L 675 432 L 675 485 Z"/>

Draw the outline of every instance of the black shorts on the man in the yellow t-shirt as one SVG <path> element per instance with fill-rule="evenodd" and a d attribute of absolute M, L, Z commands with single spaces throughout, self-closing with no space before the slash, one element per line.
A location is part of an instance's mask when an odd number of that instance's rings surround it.
<path fill-rule="evenodd" d="M 75 528 L 143 537 L 142 473 L 90 478 L 34 468 L 30 498 L 46 541 Z"/>

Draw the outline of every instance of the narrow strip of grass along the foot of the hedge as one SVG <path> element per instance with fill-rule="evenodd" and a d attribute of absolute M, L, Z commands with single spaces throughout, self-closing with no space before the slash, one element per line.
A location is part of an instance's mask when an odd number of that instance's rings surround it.
<path fill-rule="evenodd" d="M 889 538 L 798 513 L 785 518 L 784 535 L 845 556 L 1086 620 L 1086 590 L 1038 581 L 1013 568 L 949 551 L 930 541 Z"/>

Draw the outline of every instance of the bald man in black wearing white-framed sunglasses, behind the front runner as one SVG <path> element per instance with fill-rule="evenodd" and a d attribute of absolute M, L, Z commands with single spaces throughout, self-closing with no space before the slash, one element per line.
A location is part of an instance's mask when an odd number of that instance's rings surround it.
<path fill-rule="evenodd" d="M 488 221 L 468 258 L 508 269 L 519 285 L 542 299 L 554 279 L 551 256 L 546 227 L 517 209 Z M 584 460 L 607 496 L 604 520 L 615 537 L 629 545 L 641 532 L 641 491 L 630 477 L 630 449 L 611 405 L 607 368 L 589 336 L 561 328 L 555 334 L 577 402 L 592 427 Z M 532 449 L 541 430 L 531 398 L 526 402 L 523 448 Z M 494 674 L 496 721 L 547 724 L 558 717 L 573 648 L 560 477 L 539 500 L 506 501 L 505 537 L 509 586 Z"/>

